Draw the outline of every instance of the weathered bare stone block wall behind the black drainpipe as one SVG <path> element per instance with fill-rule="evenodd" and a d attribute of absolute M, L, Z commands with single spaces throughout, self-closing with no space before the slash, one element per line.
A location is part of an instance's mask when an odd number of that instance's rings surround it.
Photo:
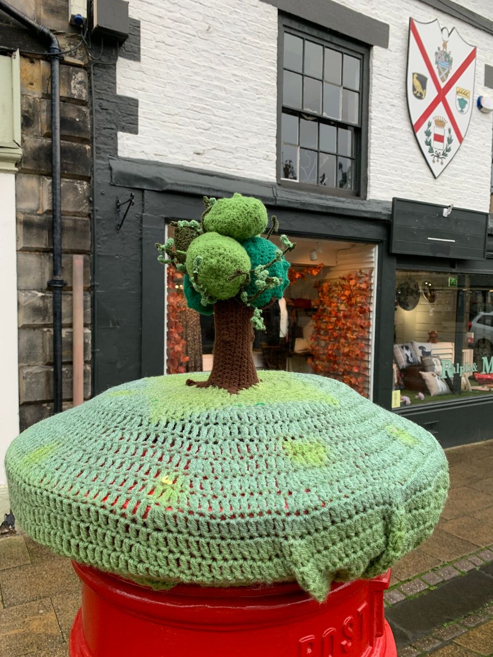
<path fill-rule="evenodd" d="M 68 24 L 66 0 L 17 0 L 12 5 L 57 31 L 62 50 L 80 42 Z M 1 12 L 0 12 L 1 14 Z M 53 412 L 50 64 L 42 43 L 1 14 L 0 45 L 19 47 L 22 58 L 22 161 L 16 174 L 18 272 L 18 360 L 20 428 Z M 14 43 L 17 41 L 17 43 Z M 7 43 L 6 43 L 7 42 Z M 24 51 L 24 52 L 23 52 Z M 90 180 L 91 121 L 85 49 L 64 56 L 60 65 L 62 139 L 62 360 L 64 407 L 72 399 L 72 254 L 84 254 L 84 396 L 90 395 Z"/>

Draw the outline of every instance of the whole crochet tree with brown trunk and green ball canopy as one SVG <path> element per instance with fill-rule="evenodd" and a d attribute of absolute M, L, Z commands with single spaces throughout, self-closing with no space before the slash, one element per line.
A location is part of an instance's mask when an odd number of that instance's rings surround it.
<path fill-rule="evenodd" d="M 266 237 L 267 210 L 258 198 L 204 196 L 199 221 L 174 221 L 175 237 L 156 244 L 158 260 L 184 273 L 183 290 L 189 307 L 214 313 L 214 362 L 208 380 L 187 385 L 216 386 L 230 393 L 258 383 L 252 327 L 264 329 L 262 308 L 281 298 L 289 284 L 285 254 L 294 244 L 281 235 L 284 250 L 270 241 L 279 229 L 277 219 Z"/>

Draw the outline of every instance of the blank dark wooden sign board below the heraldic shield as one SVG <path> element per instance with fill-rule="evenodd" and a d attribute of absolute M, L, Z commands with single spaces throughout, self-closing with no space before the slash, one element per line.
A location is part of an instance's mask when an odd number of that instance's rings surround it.
<path fill-rule="evenodd" d="M 390 251 L 395 254 L 485 260 L 488 213 L 394 198 Z"/>

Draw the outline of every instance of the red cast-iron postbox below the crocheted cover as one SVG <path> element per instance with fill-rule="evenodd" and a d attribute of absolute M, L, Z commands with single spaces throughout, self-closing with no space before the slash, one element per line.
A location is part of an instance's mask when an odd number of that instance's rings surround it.
<path fill-rule="evenodd" d="M 396 657 L 384 575 L 334 584 L 319 603 L 296 583 L 180 584 L 153 591 L 74 563 L 82 607 L 71 657 Z"/>

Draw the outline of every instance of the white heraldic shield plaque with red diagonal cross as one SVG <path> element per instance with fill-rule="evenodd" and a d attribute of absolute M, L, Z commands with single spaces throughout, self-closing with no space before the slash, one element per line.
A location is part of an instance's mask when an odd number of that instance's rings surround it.
<path fill-rule="evenodd" d="M 459 150 L 473 112 L 476 47 L 438 20 L 411 18 L 406 95 L 414 136 L 435 178 Z"/>

